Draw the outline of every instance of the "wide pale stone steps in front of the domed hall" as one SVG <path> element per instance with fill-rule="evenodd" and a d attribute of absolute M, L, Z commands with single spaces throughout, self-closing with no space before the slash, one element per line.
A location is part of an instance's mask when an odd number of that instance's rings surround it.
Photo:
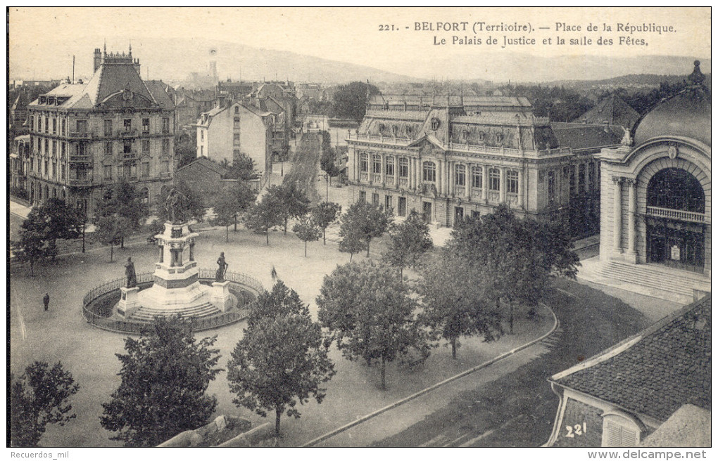
<path fill-rule="evenodd" d="M 693 297 L 694 288 L 710 291 L 710 280 L 701 274 L 670 270 L 658 265 L 632 265 L 612 261 L 602 266 L 600 275 L 622 282 L 651 287 L 654 290 Z"/>

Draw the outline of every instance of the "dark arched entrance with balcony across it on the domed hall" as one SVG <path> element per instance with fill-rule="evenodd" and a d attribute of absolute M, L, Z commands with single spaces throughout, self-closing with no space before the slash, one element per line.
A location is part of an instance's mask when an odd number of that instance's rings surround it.
<path fill-rule="evenodd" d="M 682 168 L 663 168 L 646 190 L 646 260 L 703 272 L 706 197 Z"/>

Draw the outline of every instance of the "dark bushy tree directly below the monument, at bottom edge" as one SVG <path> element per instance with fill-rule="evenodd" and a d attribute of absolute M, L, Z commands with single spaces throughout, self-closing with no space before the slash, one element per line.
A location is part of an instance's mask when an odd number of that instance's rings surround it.
<path fill-rule="evenodd" d="M 102 427 L 129 447 L 151 447 L 207 424 L 217 398 L 205 394 L 215 368 L 217 337 L 195 340 L 182 318 L 156 318 L 149 337 L 126 338 L 121 384 L 103 403 Z"/>

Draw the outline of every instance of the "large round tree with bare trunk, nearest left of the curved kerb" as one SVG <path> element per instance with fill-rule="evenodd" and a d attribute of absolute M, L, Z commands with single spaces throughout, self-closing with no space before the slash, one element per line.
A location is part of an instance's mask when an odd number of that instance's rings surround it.
<path fill-rule="evenodd" d="M 346 358 L 381 362 L 381 389 L 386 363 L 398 354 L 416 348 L 429 356 L 428 338 L 414 318 L 416 302 L 391 267 L 371 261 L 337 267 L 325 277 L 317 305 L 320 323 Z"/>

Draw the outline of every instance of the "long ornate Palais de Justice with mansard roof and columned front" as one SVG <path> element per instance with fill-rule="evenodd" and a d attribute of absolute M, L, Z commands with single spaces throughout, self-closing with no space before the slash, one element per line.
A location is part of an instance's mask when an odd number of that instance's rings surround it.
<path fill-rule="evenodd" d="M 347 140 L 350 202 L 371 200 L 399 217 L 415 209 L 452 226 L 499 204 L 519 216 L 559 218 L 579 192 L 597 194 L 591 151 L 559 146 L 526 98 L 442 99 L 370 105 Z"/>

